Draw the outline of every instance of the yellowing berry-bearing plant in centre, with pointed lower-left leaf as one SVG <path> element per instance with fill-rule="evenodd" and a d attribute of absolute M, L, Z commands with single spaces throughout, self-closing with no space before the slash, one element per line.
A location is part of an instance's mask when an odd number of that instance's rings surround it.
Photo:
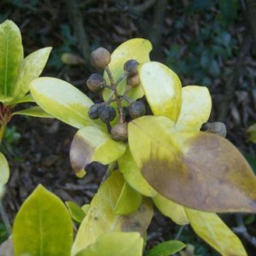
<path fill-rule="evenodd" d="M 78 129 L 70 148 L 75 174 L 84 177 L 94 161 L 108 170 L 90 205 L 67 202 L 79 223 L 74 241 L 67 209 L 39 185 L 15 218 L 15 255 L 143 255 L 154 206 L 190 224 L 219 253 L 247 255 L 217 213 L 256 212 L 256 178 L 228 140 L 200 131 L 212 108 L 207 88 L 182 87 L 176 73 L 149 60 L 151 49 L 136 38 L 112 55 L 92 52 L 92 65 L 104 73 L 86 84 L 101 103 L 61 79 L 30 83 L 40 109 Z M 171 241 L 168 255 L 183 246 Z"/>

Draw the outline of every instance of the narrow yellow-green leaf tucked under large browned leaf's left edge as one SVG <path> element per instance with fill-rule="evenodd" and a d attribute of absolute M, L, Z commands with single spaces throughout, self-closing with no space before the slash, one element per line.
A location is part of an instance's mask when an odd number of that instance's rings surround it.
<path fill-rule="evenodd" d="M 119 171 L 123 173 L 125 181 L 130 184 L 133 189 L 145 196 L 154 196 L 157 192 L 144 179 L 142 173 L 137 167 L 131 156 L 131 151 L 127 147 L 125 154 L 118 159 Z"/>

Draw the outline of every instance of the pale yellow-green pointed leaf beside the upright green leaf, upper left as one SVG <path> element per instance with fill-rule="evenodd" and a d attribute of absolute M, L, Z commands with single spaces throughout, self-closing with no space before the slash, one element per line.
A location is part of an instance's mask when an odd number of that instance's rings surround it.
<path fill-rule="evenodd" d="M 42 73 L 51 49 L 51 47 L 38 49 L 20 62 L 19 72 L 12 92 L 15 98 L 26 95 L 31 81 L 37 79 Z"/>

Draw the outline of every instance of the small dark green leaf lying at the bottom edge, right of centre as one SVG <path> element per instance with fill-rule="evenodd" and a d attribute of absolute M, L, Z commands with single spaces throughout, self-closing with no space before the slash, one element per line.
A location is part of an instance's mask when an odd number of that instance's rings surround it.
<path fill-rule="evenodd" d="M 153 247 L 145 256 L 169 256 L 181 251 L 186 245 L 182 241 L 164 241 Z"/>

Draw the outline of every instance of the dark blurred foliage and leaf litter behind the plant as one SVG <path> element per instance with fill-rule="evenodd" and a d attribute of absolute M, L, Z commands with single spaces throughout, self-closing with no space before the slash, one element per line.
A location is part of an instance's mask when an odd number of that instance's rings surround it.
<path fill-rule="evenodd" d="M 148 38 L 151 59 L 162 61 L 183 85 L 202 84 L 211 91 L 211 121 L 227 125 L 228 139 L 255 168 L 256 148 L 246 129 L 256 121 L 256 3 L 253 0 L 2 0 L 0 23 L 14 20 L 20 27 L 25 55 L 52 46 L 44 76 L 67 80 L 94 101 L 85 81 L 94 70 L 90 52 L 98 46 L 113 51 L 129 38 Z M 61 61 L 65 53 L 79 57 L 78 65 Z M 80 59 L 82 58 L 82 60 Z M 15 212 L 38 183 L 79 204 L 90 201 L 105 166 L 94 164 L 82 180 L 74 177 L 68 160 L 75 130 L 56 120 L 15 118 L 2 150 L 8 155 L 11 179 L 4 207 L 13 222 Z M 224 215 L 249 255 L 255 255 L 254 215 Z M 195 254 L 218 255 L 189 227 L 179 232 L 171 220 L 156 212 L 148 232 L 148 247 L 175 237 L 195 247 Z M 0 224 L 0 239 L 6 233 Z M 191 255 L 191 254 L 186 254 Z"/>

